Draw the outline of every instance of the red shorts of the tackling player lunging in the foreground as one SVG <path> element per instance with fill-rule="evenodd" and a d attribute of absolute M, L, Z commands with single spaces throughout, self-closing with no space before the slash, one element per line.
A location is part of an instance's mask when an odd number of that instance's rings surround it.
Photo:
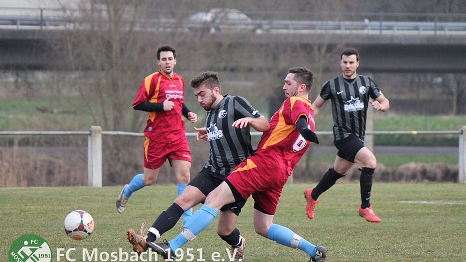
<path fill-rule="evenodd" d="M 252 195 L 256 204 L 259 204 L 266 213 L 275 214 L 288 175 L 281 172 L 281 168 L 272 170 L 273 168 L 269 166 L 264 169 L 248 158 L 235 167 L 227 180 L 244 199 Z"/>

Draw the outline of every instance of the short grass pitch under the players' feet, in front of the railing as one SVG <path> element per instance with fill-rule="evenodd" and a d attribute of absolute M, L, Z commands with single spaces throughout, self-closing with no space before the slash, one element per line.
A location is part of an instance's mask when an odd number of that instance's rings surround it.
<path fill-rule="evenodd" d="M 382 223 L 371 224 L 357 214 L 359 184 L 338 183 L 319 198 L 316 218 L 305 215 L 302 192 L 314 184 L 287 184 L 274 222 L 282 224 L 311 243 L 329 248 L 328 261 L 465 261 L 466 186 L 451 183 L 375 183 L 372 204 Z M 174 185 L 155 185 L 133 195 L 126 212 L 115 209 L 120 187 L 0 188 L 1 261 L 7 261 L 11 243 L 23 234 L 45 238 L 57 261 L 57 248 L 76 248 L 72 258 L 82 261 L 82 250 L 99 252 L 131 251 L 125 241 L 128 228 L 149 225 L 175 198 Z M 308 261 L 298 249 L 280 246 L 254 233 L 252 204 L 248 201 L 238 220 L 247 239 L 247 262 Z M 195 209 L 199 208 L 197 206 Z M 88 211 L 96 229 L 83 241 L 69 239 L 63 220 L 75 209 Z M 163 238 L 171 239 L 181 230 L 181 221 Z M 214 223 L 185 248 L 202 248 L 203 258 L 219 251 L 227 258 L 226 245 L 216 235 Z M 194 253 L 199 258 L 197 252 Z M 161 260 L 161 259 L 159 259 Z M 66 261 L 61 258 L 61 261 Z M 195 260 L 196 261 L 196 260 Z"/>

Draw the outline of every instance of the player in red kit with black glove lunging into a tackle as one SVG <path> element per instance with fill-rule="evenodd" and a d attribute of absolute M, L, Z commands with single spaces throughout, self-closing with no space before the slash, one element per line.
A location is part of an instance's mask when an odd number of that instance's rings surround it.
<path fill-rule="evenodd" d="M 268 239 L 306 252 L 312 261 L 326 258 L 327 249 L 315 246 L 292 230 L 273 224 L 283 186 L 310 142 L 318 144 L 314 133 L 314 111 L 308 99 L 314 74 L 305 67 L 291 68 L 284 80 L 286 99 L 272 116 L 270 129 L 262 135 L 254 154 L 230 173 L 205 199 L 204 205 L 193 214 L 180 233 L 170 242 L 148 243 L 165 259 L 207 228 L 218 210 L 229 203 L 245 203 L 254 199 L 253 224 L 255 231 Z M 234 125 L 234 124 L 233 124 Z"/>

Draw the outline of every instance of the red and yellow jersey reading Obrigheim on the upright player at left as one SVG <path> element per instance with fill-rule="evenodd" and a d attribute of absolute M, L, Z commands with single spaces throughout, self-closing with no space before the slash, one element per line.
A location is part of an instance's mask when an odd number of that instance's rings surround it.
<path fill-rule="evenodd" d="M 170 111 L 148 112 L 149 119 L 144 135 L 159 142 L 173 142 L 185 136 L 183 115 L 181 110 L 184 101 L 184 79 L 173 73 L 173 78 L 166 76 L 161 70 L 147 76 L 141 83 L 133 107 L 141 102 L 162 103 L 170 99 L 175 107 Z"/>

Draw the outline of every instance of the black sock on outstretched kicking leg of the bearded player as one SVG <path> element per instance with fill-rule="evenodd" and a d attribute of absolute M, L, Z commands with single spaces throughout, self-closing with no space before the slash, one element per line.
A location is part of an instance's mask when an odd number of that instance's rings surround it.
<path fill-rule="evenodd" d="M 173 203 L 166 211 L 160 213 L 154 224 L 152 224 L 152 228 L 157 229 L 160 235 L 163 235 L 176 225 L 183 213 L 184 210 L 178 204 Z M 147 242 L 154 242 L 156 238 L 151 232 L 147 233 Z"/>

